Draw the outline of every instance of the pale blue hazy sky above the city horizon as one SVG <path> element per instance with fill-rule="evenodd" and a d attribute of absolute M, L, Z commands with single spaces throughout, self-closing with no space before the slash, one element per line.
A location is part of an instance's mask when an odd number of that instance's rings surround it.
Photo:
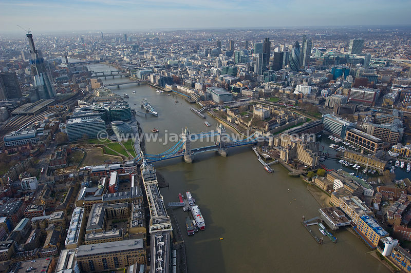
<path fill-rule="evenodd" d="M 409 0 L 0 0 L 0 33 L 411 24 Z"/>

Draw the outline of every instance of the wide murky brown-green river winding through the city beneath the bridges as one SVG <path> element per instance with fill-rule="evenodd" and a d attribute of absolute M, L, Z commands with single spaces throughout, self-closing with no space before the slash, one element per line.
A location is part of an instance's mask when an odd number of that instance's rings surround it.
<path fill-rule="evenodd" d="M 103 64 L 91 65 L 90 69 L 116 70 Z M 125 81 L 128 79 L 124 77 L 103 78 L 106 84 Z M 159 136 L 164 136 L 165 130 L 180 134 L 185 127 L 193 133 L 206 132 L 215 130 L 218 124 L 209 115 L 206 120 L 199 118 L 190 111 L 193 104 L 181 96 L 157 93 L 146 85 L 110 88 L 121 96 L 128 94 L 129 99 L 124 100 L 132 109 L 142 111 L 141 100 L 147 99 L 158 111 L 158 117 L 137 117 L 145 133 L 157 128 Z M 147 153 L 156 154 L 173 145 L 146 142 L 145 148 Z M 202 145 L 209 144 L 193 143 L 193 147 Z M 300 178 L 290 178 L 280 165 L 271 165 L 274 173 L 267 173 L 250 145 L 230 148 L 228 153 L 227 158 L 215 152 L 202 153 L 196 155 L 193 164 L 180 158 L 154 164 L 169 183 L 168 188 L 161 189 L 165 203 L 177 202 L 178 193 L 191 191 L 206 222 L 204 231 L 189 237 L 185 216 L 190 213 L 174 210 L 190 272 L 388 272 L 366 253 L 369 249 L 365 243 L 345 229 L 335 233 L 337 244 L 327 238 L 322 245 L 313 240 L 301 220 L 303 216 L 317 216 L 320 205 Z"/>

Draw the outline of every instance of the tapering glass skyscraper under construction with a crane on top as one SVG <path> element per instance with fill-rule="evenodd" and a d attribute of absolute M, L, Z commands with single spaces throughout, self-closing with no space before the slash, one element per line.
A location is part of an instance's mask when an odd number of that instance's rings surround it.
<path fill-rule="evenodd" d="M 36 50 L 33 42 L 33 34 L 26 34 L 30 46 L 30 65 L 31 76 L 34 82 L 34 87 L 37 89 L 38 97 L 42 99 L 50 99 L 55 96 L 49 76 L 46 72 L 46 65 L 40 50 Z"/>

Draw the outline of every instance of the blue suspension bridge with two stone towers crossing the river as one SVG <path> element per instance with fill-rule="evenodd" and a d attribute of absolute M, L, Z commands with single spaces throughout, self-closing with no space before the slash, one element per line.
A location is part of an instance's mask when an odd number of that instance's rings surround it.
<path fill-rule="evenodd" d="M 191 142 L 197 139 L 216 137 L 214 145 L 204 146 L 199 148 L 192 148 Z M 208 151 L 217 151 L 222 157 L 227 156 L 227 149 L 231 147 L 244 146 L 250 144 L 257 144 L 258 142 L 265 141 L 265 137 L 262 135 L 252 134 L 246 139 L 233 139 L 226 132 L 225 126 L 222 124 L 217 125 L 216 131 L 210 131 L 205 133 L 191 134 L 188 128 L 183 129 L 182 138 L 170 149 L 160 154 L 148 154 L 141 152 L 135 158 L 136 161 L 144 161 L 146 163 L 153 163 L 166 159 L 183 158 L 186 163 L 192 163 L 196 154 Z"/>

